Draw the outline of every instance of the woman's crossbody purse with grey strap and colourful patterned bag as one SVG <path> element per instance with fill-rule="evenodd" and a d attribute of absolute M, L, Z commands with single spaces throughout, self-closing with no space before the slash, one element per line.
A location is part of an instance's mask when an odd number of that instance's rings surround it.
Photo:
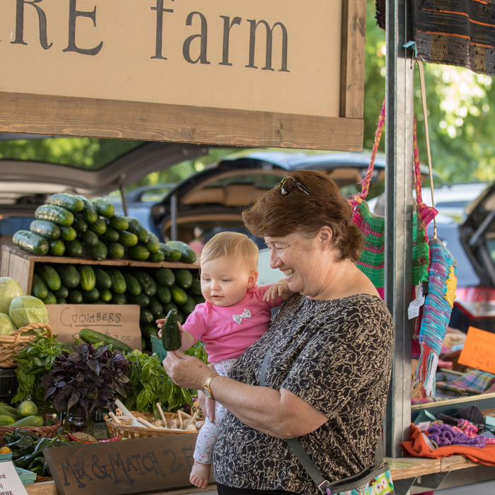
<path fill-rule="evenodd" d="M 267 364 L 272 354 L 270 347 L 261 366 L 260 371 L 260 386 L 266 387 Z M 308 453 L 301 445 L 297 438 L 289 438 L 286 440 L 293 454 L 296 456 L 306 472 L 315 482 L 318 489 L 324 495 L 395 495 L 392 476 L 390 475 L 390 467 L 388 462 L 383 462 L 383 441 L 380 435 L 380 441 L 375 453 L 375 465 L 368 466 L 358 474 L 348 478 L 339 479 L 336 482 L 327 481 L 315 463 L 311 460 Z"/>

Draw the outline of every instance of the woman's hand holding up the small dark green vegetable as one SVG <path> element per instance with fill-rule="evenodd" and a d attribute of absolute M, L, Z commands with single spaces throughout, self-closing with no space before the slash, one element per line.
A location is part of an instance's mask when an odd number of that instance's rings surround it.
<path fill-rule="evenodd" d="M 180 351 L 169 351 L 163 360 L 163 368 L 173 383 L 182 388 L 202 390 L 206 378 L 211 375 L 211 369 L 203 361 Z"/>

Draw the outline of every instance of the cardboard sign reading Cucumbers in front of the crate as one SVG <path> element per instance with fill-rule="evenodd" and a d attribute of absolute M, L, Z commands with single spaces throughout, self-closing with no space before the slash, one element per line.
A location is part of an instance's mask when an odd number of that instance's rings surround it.
<path fill-rule="evenodd" d="M 48 304 L 54 335 L 64 344 L 74 344 L 79 330 L 89 328 L 141 350 L 139 306 L 133 304 Z"/>

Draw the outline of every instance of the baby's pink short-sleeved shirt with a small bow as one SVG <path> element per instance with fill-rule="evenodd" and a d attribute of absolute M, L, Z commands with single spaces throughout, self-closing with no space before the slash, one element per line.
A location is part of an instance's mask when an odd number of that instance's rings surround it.
<path fill-rule="evenodd" d="M 282 298 L 263 301 L 269 285 L 248 289 L 245 298 L 233 306 L 215 306 L 206 301 L 198 304 L 182 325 L 196 340 L 204 342 L 211 363 L 223 359 L 236 359 L 267 332 L 272 320 L 272 308 L 281 305 Z M 245 310 L 250 318 L 235 322 L 234 315 L 243 315 Z M 236 320 L 240 318 L 235 317 Z"/>

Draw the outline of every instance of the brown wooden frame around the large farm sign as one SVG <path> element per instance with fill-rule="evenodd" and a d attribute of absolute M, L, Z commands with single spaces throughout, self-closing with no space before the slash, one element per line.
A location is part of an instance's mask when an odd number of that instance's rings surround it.
<path fill-rule="evenodd" d="M 361 151 L 365 30 L 366 1 L 343 0 L 340 117 L 0 92 L 0 132 Z"/>

